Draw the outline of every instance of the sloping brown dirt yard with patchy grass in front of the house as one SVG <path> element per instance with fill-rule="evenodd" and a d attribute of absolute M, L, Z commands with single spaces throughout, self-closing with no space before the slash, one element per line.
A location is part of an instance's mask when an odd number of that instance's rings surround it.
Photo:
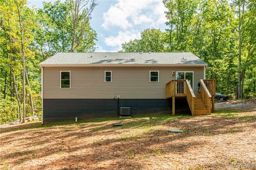
<path fill-rule="evenodd" d="M 2 127 L 0 169 L 256 169 L 256 104 L 219 105 L 202 117 Z"/>

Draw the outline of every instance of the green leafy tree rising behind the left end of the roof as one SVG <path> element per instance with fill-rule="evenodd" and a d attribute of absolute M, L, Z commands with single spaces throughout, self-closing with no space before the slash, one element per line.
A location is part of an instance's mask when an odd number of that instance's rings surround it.
<path fill-rule="evenodd" d="M 83 3 L 82 3 L 83 2 Z M 51 56 L 57 52 L 87 52 L 97 40 L 89 20 L 95 2 L 89 7 L 83 4 L 90 1 L 44 2 L 38 10 L 41 29 L 37 30 L 37 42 L 43 55 Z M 82 11 L 82 12 L 78 12 Z"/>

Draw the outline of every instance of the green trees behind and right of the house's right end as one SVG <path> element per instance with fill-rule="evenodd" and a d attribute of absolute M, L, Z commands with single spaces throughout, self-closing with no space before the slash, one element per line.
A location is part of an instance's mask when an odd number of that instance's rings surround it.
<path fill-rule="evenodd" d="M 181 52 L 209 65 L 206 78 L 217 92 L 251 98 L 255 91 L 256 2 L 253 0 L 164 0 L 166 31 L 146 29 L 123 52 Z M 157 45 L 147 45 L 154 44 Z"/>

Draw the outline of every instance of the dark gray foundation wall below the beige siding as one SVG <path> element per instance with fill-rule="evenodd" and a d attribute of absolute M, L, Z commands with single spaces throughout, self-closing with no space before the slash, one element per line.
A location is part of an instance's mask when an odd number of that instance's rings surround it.
<path fill-rule="evenodd" d="M 177 113 L 190 114 L 186 99 L 175 99 Z M 119 107 L 131 107 L 131 116 L 171 112 L 170 99 L 119 99 Z M 114 99 L 44 99 L 44 123 L 117 115 Z"/>

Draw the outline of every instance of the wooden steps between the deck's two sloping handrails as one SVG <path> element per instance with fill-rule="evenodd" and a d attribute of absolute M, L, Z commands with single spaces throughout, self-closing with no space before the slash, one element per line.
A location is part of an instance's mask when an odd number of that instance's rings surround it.
<path fill-rule="evenodd" d="M 201 96 L 201 94 L 195 94 L 195 110 L 194 110 L 194 116 L 199 115 L 209 115 L 211 112 L 207 107 L 205 106 L 204 100 Z"/>

